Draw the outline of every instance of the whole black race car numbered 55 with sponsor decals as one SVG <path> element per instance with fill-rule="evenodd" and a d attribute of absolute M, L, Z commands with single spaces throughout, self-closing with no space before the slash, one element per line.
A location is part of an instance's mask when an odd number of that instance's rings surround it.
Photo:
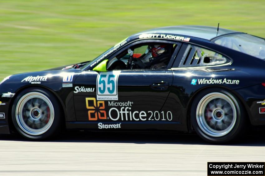
<path fill-rule="evenodd" d="M 5 78 L 0 133 L 196 131 L 227 142 L 265 125 L 264 60 L 265 40 L 242 32 L 143 31 L 92 61 Z"/>

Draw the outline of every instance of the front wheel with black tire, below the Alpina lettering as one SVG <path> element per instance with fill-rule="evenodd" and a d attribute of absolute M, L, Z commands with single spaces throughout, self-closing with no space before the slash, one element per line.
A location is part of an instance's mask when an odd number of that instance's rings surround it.
<path fill-rule="evenodd" d="M 23 137 L 31 140 L 46 139 L 60 130 L 62 121 L 59 103 L 44 88 L 25 89 L 14 100 L 12 121 Z"/>

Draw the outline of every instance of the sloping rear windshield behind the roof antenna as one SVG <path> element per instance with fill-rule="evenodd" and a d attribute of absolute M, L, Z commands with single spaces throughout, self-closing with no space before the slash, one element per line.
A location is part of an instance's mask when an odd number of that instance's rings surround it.
<path fill-rule="evenodd" d="M 265 39 L 262 38 L 248 34 L 232 34 L 220 36 L 214 40 L 214 43 L 259 59 L 265 59 Z"/>

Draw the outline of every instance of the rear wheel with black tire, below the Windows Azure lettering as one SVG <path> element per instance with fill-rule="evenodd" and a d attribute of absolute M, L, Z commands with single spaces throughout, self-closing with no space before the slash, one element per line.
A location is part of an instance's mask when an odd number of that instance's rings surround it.
<path fill-rule="evenodd" d="M 221 88 L 200 92 L 191 106 L 191 123 L 205 141 L 225 143 L 243 136 L 246 113 L 239 99 Z"/>

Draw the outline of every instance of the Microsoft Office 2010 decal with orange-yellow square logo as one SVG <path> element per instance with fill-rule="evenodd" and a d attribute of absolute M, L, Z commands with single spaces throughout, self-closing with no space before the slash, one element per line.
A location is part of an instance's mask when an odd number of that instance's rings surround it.
<path fill-rule="evenodd" d="M 85 98 L 89 121 L 172 121 L 171 111 L 135 110 L 131 101 L 97 101 Z"/>

